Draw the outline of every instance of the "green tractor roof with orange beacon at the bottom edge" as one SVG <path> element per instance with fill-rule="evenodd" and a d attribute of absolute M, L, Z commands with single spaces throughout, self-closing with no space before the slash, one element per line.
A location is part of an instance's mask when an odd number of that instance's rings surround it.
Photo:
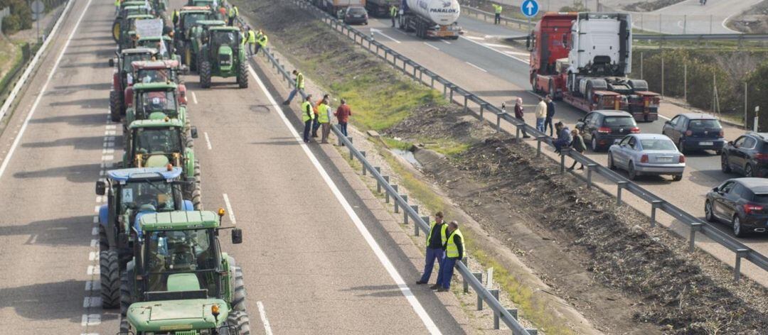
<path fill-rule="evenodd" d="M 214 304 L 219 305 L 218 320 L 211 313 Z M 229 314 L 227 302 L 221 299 L 188 299 L 137 302 L 128 307 L 126 317 L 142 333 L 167 333 L 168 330 L 197 333 L 194 330 L 219 327 Z"/>

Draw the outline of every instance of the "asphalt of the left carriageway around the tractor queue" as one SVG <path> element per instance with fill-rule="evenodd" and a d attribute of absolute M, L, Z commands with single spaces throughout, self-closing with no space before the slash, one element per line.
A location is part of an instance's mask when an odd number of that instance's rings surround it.
<path fill-rule="evenodd" d="M 122 156 L 108 122 L 113 13 L 75 0 L 0 136 L 3 332 L 118 331 L 116 311 L 101 310 L 94 243 L 94 182 Z M 255 77 L 248 89 L 185 79 L 204 206 L 243 229 L 242 245 L 221 239 L 246 276 L 253 333 L 463 333 L 435 294 L 410 291 L 419 270 Z"/>

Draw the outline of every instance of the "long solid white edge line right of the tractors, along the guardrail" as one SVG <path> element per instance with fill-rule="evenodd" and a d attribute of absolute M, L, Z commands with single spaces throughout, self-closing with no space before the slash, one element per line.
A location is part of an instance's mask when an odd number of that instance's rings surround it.
<path fill-rule="evenodd" d="M 346 214 L 349 215 L 349 218 L 351 218 L 352 221 L 355 223 L 355 227 L 360 232 L 360 235 L 362 235 L 362 237 L 365 238 L 366 242 L 368 243 L 368 246 L 372 249 L 373 253 L 376 255 L 376 258 L 379 258 L 379 262 L 381 262 L 382 266 L 384 266 L 387 273 L 389 274 L 389 277 L 392 278 L 392 281 L 395 281 L 400 291 L 402 292 L 402 295 L 406 297 L 406 300 L 409 302 L 409 304 L 411 304 L 411 307 L 413 308 L 415 313 L 419 315 L 419 318 L 421 318 L 422 322 L 424 323 L 424 326 L 427 328 L 427 330 L 429 330 L 429 333 L 442 334 L 438 329 L 438 327 L 435 325 L 435 321 L 433 321 L 432 318 L 429 317 L 429 314 L 427 314 L 426 310 L 424 310 L 424 307 L 422 307 L 422 304 L 413 295 L 413 292 L 406 284 L 406 281 L 402 279 L 397 269 L 395 268 L 395 265 L 392 264 L 392 261 L 389 261 L 389 258 L 387 258 L 386 254 L 384 253 L 382 248 L 379 246 L 379 244 L 376 243 L 376 240 L 368 231 L 368 228 L 366 228 L 366 226 L 362 224 L 362 220 L 360 220 L 359 216 L 357 216 L 357 213 L 355 213 L 355 211 L 352 209 L 352 205 L 349 205 L 349 202 L 347 202 L 346 199 L 344 198 L 344 195 L 341 194 L 341 191 L 339 191 L 339 188 L 336 186 L 336 183 L 333 182 L 331 177 L 328 175 L 328 172 L 326 172 L 326 170 L 323 169 L 323 166 L 320 165 L 315 155 L 312 153 L 312 151 L 310 151 L 310 147 L 307 146 L 306 143 L 304 143 L 299 133 L 296 131 L 296 129 L 293 128 L 293 125 L 290 123 L 285 113 L 283 112 L 283 108 L 275 101 L 275 99 L 270 94 L 269 90 L 266 90 L 264 83 L 261 81 L 259 76 L 257 76 L 256 71 L 253 71 L 253 68 L 250 67 L 250 64 L 248 65 L 248 71 L 250 71 L 251 76 L 253 76 L 256 79 L 257 84 L 259 84 L 259 87 L 263 91 L 264 95 L 266 95 L 266 98 L 270 100 L 272 107 L 279 112 L 278 115 L 280 115 L 280 119 L 283 120 L 283 123 L 285 123 L 286 127 L 288 128 L 290 133 L 293 135 L 293 140 L 295 140 L 296 143 L 298 143 L 299 146 L 301 146 L 306 156 L 309 157 L 310 162 L 312 162 L 312 164 L 315 166 L 315 169 L 317 169 L 317 172 L 319 172 L 320 176 L 323 177 L 323 181 L 326 182 L 326 185 L 328 185 L 328 188 L 331 190 L 331 192 L 333 192 L 333 195 L 336 196 L 336 201 L 338 201 L 342 205 L 342 207 L 346 211 Z"/>

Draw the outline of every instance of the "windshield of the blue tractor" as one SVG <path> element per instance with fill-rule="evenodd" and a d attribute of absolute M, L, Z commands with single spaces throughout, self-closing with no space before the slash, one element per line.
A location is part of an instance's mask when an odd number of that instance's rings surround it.
<path fill-rule="evenodd" d="M 120 192 L 121 212 L 134 209 L 165 212 L 175 209 L 174 187 L 164 180 L 131 181 Z"/>

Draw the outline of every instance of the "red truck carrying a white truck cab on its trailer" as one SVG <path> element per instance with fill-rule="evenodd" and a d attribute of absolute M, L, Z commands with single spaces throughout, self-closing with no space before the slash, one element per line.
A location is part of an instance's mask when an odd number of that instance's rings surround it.
<path fill-rule="evenodd" d="M 621 13 L 546 13 L 528 37 L 531 87 L 580 110 L 658 119 L 660 95 L 630 79 L 632 21 Z"/>

